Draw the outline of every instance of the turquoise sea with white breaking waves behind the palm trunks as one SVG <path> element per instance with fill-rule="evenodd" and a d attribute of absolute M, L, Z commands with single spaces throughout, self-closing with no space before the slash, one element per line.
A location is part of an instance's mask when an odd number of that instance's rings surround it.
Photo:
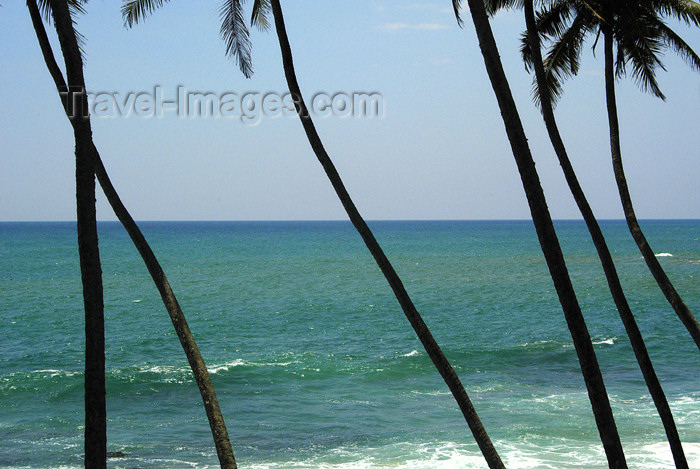
<path fill-rule="evenodd" d="M 486 467 L 347 222 L 142 223 L 212 373 L 242 468 Z M 602 468 L 571 338 L 530 222 L 374 222 L 509 468 Z M 700 221 L 643 227 L 700 313 Z M 672 467 L 585 226 L 558 222 L 630 467 Z M 216 467 L 199 393 L 124 230 L 101 223 L 114 468 Z M 623 222 L 603 223 L 700 467 L 700 354 Z M 0 467 L 82 464 L 72 223 L 0 223 Z"/>

